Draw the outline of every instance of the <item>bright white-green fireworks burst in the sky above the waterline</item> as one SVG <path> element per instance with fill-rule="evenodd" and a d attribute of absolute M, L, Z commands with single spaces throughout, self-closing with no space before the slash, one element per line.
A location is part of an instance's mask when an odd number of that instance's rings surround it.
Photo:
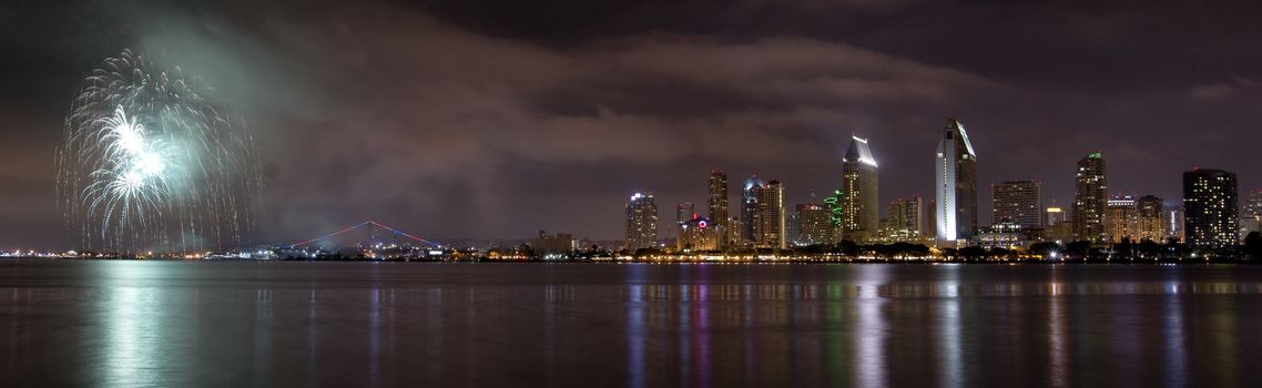
<path fill-rule="evenodd" d="M 57 152 L 58 205 L 83 248 L 228 248 L 251 232 L 254 141 L 208 91 L 131 50 L 83 81 Z"/>

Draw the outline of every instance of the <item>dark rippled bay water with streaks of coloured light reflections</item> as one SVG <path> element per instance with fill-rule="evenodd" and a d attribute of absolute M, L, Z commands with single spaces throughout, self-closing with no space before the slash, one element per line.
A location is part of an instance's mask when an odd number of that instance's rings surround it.
<path fill-rule="evenodd" d="M 1262 387 L 1262 267 L 0 261 L 0 385 Z"/>

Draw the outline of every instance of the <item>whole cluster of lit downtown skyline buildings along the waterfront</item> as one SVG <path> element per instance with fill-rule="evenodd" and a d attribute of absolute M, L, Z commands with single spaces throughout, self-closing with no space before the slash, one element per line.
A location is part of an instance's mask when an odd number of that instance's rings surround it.
<path fill-rule="evenodd" d="M 674 231 L 659 231 L 659 207 L 652 194 L 631 195 L 623 248 L 731 252 L 852 241 L 1011 249 L 1037 242 L 1107 246 L 1176 239 L 1193 249 L 1214 251 L 1233 247 L 1246 233 L 1258 231 L 1262 219 L 1262 191 L 1252 191 L 1241 212 L 1235 174 L 1223 170 L 1184 173 L 1180 205 L 1167 207 L 1153 195 L 1111 197 L 1104 156 L 1090 152 L 1075 166 L 1074 202 L 1068 210 L 1055 203 L 1044 207 L 1041 183 L 1008 180 L 991 185 L 991 223 L 983 227 L 978 223 L 977 163 L 964 126 L 948 118 L 935 152 L 933 197 L 897 198 L 883 209 L 877 191 L 878 164 L 868 141 L 857 136 L 842 160 L 840 186 L 819 202 L 786 205 L 780 181 L 755 175 L 741 186 L 734 204 L 738 214 L 732 214 L 728 176 L 714 170 L 709 175 L 708 207 L 678 204 Z M 664 244 L 663 237 L 671 234 L 674 244 Z"/>

